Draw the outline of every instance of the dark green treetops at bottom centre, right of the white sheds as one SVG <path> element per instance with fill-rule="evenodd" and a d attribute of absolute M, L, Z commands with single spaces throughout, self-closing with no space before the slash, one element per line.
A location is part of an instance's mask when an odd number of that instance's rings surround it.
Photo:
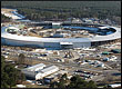
<path fill-rule="evenodd" d="M 74 89 L 81 89 L 81 88 L 96 88 L 96 85 L 94 81 L 85 81 L 83 80 L 79 75 L 73 76 L 71 79 L 68 79 L 67 73 L 64 73 L 59 82 L 54 81 L 50 83 L 50 88 L 74 88 Z"/>

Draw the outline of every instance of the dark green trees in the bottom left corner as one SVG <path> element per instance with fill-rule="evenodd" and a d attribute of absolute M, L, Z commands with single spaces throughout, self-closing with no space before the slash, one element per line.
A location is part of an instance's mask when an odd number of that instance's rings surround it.
<path fill-rule="evenodd" d="M 26 77 L 13 65 L 7 63 L 4 60 L 4 57 L 1 56 L 1 88 L 12 88 L 17 83 L 21 83 Z"/>

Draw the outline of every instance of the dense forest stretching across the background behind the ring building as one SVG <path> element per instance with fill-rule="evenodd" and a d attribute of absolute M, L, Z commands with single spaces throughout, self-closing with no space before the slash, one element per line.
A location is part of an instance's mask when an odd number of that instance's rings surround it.
<path fill-rule="evenodd" d="M 1 8 L 16 8 L 31 20 L 121 17 L 120 1 L 2 1 Z"/>

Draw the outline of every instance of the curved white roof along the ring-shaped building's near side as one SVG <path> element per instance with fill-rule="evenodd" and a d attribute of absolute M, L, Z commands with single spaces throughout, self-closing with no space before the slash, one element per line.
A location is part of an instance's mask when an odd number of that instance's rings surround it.
<path fill-rule="evenodd" d="M 13 39 L 19 41 L 31 41 L 31 42 L 91 42 L 91 41 L 105 41 L 121 38 L 121 28 L 111 27 L 116 31 L 108 36 L 95 36 L 92 38 L 39 38 L 28 36 L 17 36 L 6 32 L 8 27 L 1 28 L 1 37 L 7 39 Z"/>

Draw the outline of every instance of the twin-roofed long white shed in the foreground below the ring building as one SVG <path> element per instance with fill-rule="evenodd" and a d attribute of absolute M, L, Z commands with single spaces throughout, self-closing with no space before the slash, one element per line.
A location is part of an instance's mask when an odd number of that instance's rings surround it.
<path fill-rule="evenodd" d="M 22 72 L 32 79 L 42 79 L 43 77 L 50 76 L 54 72 L 59 71 L 59 68 L 57 66 L 48 66 L 43 63 L 39 63 L 26 69 L 22 69 Z"/>

